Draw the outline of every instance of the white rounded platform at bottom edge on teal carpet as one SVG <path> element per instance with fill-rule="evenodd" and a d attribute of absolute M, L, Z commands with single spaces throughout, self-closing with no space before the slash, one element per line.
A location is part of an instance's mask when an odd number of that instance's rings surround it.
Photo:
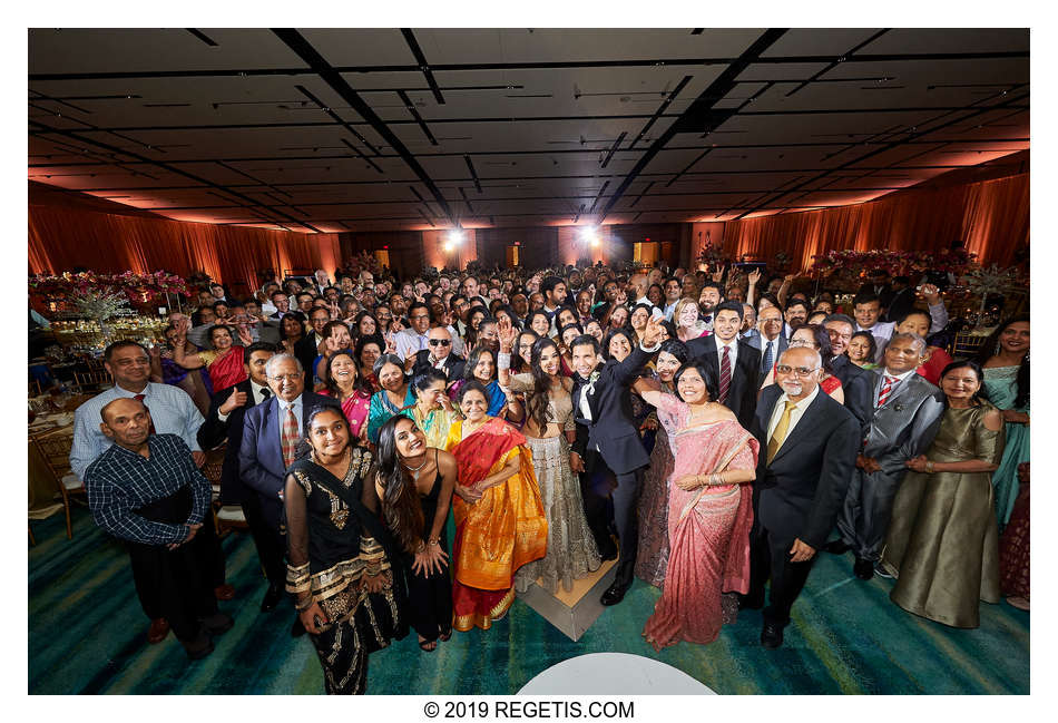
<path fill-rule="evenodd" d="M 716 691 L 660 661 L 591 653 L 556 663 L 518 695 L 716 695 Z"/>

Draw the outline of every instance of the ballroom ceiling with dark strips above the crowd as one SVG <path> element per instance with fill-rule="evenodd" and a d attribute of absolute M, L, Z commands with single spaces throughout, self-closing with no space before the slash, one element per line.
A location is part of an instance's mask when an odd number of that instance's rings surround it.
<path fill-rule="evenodd" d="M 1018 29 L 40 29 L 29 178 L 345 232 L 732 221 L 1029 147 Z"/>

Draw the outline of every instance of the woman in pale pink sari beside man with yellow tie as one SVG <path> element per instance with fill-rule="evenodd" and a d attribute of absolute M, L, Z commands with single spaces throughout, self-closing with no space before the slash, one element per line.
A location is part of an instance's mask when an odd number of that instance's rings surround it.
<path fill-rule="evenodd" d="M 668 569 L 643 635 L 660 651 L 679 641 L 712 643 L 734 623 L 729 593 L 750 589 L 750 527 L 758 444 L 716 399 L 715 372 L 685 364 L 675 378 L 683 401 L 640 379 L 636 391 L 657 408 L 675 448 L 668 505 Z"/>

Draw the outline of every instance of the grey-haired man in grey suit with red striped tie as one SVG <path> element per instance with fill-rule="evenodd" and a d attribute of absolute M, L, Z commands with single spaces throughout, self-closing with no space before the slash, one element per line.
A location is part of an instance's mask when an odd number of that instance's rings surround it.
<path fill-rule="evenodd" d="M 852 549 L 853 571 L 871 579 L 881 558 L 893 498 L 908 469 L 904 462 L 925 451 L 944 411 L 941 391 L 915 370 L 922 363 L 925 340 L 893 334 L 885 349 L 885 367 L 874 374 L 874 416 L 864 431 L 856 469 L 837 517 L 841 538 L 829 553 Z"/>

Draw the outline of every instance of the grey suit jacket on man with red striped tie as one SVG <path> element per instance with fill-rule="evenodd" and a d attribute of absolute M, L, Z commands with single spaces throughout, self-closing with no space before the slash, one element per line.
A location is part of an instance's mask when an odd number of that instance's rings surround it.
<path fill-rule="evenodd" d="M 884 382 L 883 374 L 873 377 L 872 402 Z M 909 375 L 890 393 L 885 406 L 874 410 L 864 432 L 863 456 L 874 458 L 884 475 L 902 475 L 904 462 L 932 443 L 943 411 L 943 393 L 921 375 Z"/>

